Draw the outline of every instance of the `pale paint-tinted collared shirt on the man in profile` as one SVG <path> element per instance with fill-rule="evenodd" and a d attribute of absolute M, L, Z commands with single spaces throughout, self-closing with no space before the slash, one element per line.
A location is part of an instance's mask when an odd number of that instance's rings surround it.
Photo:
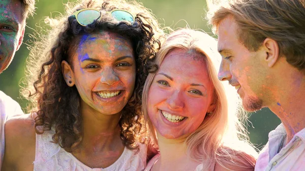
<path fill-rule="evenodd" d="M 269 133 L 269 141 L 258 156 L 255 171 L 305 170 L 305 128 L 297 132 L 281 149 L 285 137 L 286 131 L 283 124 Z"/>

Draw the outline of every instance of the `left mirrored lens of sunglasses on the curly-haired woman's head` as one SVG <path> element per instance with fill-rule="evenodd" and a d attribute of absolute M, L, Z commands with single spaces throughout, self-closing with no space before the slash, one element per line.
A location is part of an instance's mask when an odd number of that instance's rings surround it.
<path fill-rule="evenodd" d="M 80 24 L 88 25 L 100 17 L 101 13 L 95 10 L 85 10 L 77 15 L 77 20 Z"/>

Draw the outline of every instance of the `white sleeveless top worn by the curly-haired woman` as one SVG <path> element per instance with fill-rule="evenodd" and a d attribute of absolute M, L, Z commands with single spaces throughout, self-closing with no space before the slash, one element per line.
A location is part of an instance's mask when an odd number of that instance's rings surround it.
<path fill-rule="evenodd" d="M 106 168 L 91 168 L 80 162 L 71 153 L 66 152 L 58 144 L 51 143 L 54 130 L 36 134 L 35 171 L 116 171 L 116 170 L 144 170 L 146 166 L 145 145 L 139 145 L 139 152 L 125 147 L 121 156 Z"/>

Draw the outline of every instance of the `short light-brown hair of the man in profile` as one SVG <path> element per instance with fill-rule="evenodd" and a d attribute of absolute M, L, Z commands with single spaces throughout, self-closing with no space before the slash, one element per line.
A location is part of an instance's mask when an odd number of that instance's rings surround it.
<path fill-rule="evenodd" d="M 257 51 L 270 38 L 278 42 L 280 56 L 297 69 L 305 69 L 305 0 L 228 0 L 214 4 L 207 19 L 215 32 L 223 19 L 232 16 L 239 41 L 250 51 Z"/>

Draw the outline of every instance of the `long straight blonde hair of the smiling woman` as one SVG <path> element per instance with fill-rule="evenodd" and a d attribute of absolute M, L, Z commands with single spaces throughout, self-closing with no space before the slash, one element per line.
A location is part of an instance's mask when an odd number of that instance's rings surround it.
<path fill-rule="evenodd" d="M 148 90 L 153 82 L 156 70 L 165 56 L 174 49 L 191 50 L 201 54 L 206 63 L 206 72 L 212 85 L 214 85 L 215 110 L 211 115 L 206 115 L 199 128 L 187 138 L 185 142 L 187 154 L 198 162 L 208 161 L 207 163 L 205 162 L 207 168 L 217 162 L 233 170 L 254 169 L 255 158 L 242 152 L 238 147 L 233 147 L 236 144 L 246 144 L 247 148 L 251 148 L 248 143 L 242 143 L 238 139 L 240 134 L 245 135 L 242 133 L 245 129 L 236 115 L 237 101 L 235 99 L 237 96 L 235 94 L 231 97 L 231 108 L 228 109 L 228 99 L 224 85 L 217 77 L 216 67 L 219 67 L 221 57 L 216 48 L 217 41 L 204 32 L 180 29 L 171 33 L 157 53 L 154 63 L 149 65 L 150 72 L 147 76 L 142 96 L 144 118 L 150 128 L 150 136 L 153 138 L 153 143 L 158 144 L 156 130 L 147 115 L 146 109 Z M 228 90 L 227 92 L 232 92 L 230 89 L 226 90 Z M 229 113 L 228 110 L 233 112 Z M 242 116 L 245 117 L 245 115 Z M 253 150 L 253 148 L 251 149 Z M 256 155 L 255 153 L 253 153 L 254 156 Z"/>

